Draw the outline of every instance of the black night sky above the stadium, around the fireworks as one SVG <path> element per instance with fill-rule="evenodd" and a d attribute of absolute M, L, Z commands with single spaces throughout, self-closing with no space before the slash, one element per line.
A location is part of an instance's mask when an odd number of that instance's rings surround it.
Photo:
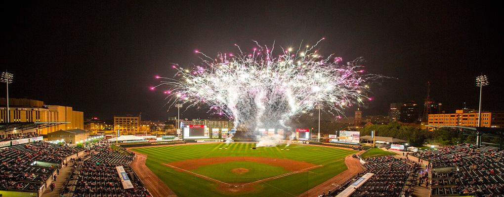
<path fill-rule="evenodd" d="M 85 118 L 138 114 L 162 120 L 167 113 L 155 75 L 173 76 L 171 63 L 198 63 L 208 55 L 261 44 L 319 45 L 320 53 L 352 60 L 366 71 L 396 77 L 371 86 L 374 100 L 363 115 L 386 114 L 390 103 L 420 105 L 431 97 L 453 112 L 477 109 L 475 77 L 489 76 L 483 109 L 504 110 L 502 18 L 498 7 L 460 1 L 154 3 L 75 1 L 2 7 L 0 58 L 14 74 L 10 96 L 71 106 Z M 5 85 L 0 85 L 5 96 Z M 353 116 L 354 108 L 347 110 Z M 206 110 L 182 118 L 206 118 Z M 326 119 L 329 116 L 326 116 Z"/>

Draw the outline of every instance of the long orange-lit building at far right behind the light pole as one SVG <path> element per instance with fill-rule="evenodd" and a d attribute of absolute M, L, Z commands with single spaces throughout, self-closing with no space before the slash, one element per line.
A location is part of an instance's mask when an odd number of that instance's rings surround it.
<path fill-rule="evenodd" d="M 478 126 L 478 111 L 456 110 L 453 114 L 429 114 L 429 125 Z M 504 128 L 504 112 L 481 112 L 481 127 Z"/>

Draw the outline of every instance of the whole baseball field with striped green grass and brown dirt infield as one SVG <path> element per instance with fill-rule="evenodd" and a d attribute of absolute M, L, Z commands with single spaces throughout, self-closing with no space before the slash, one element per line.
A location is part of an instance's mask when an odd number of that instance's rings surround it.
<path fill-rule="evenodd" d="M 209 143 L 131 149 L 178 196 L 297 196 L 347 169 L 353 150 Z M 139 155 L 140 156 L 140 155 Z M 142 156 L 142 157 L 144 157 Z"/>

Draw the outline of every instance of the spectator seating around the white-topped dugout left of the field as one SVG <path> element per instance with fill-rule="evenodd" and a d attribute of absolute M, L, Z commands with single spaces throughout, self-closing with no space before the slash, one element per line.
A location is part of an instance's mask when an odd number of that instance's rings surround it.
<path fill-rule="evenodd" d="M 109 144 L 97 144 L 92 149 L 94 151 L 88 158 L 74 164 L 63 193 L 70 193 L 75 197 L 150 196 L 130 167 L 134 158 L 132 153 L 113 150 Z M 134 188 L 123 188 L 116 166 L 124 168 Z"/>

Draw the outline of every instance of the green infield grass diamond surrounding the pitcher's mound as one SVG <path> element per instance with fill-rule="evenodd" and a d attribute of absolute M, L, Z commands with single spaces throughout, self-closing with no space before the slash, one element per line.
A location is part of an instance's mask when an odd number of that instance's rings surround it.
<path fill-rule="evenodd" d="M 243 174 L 236 174 L 231 171 L 235 168 L 245 168 L 249 171 Z M 215 178 L 223 182 L 254 182 L 256 180 L 261 180 L 290 172 L 279 166 L 252 161 L 231 161 L 226 163 L 217 163 L 201 166 L 198 169 L 191 171 L 197 174 Z"/>

